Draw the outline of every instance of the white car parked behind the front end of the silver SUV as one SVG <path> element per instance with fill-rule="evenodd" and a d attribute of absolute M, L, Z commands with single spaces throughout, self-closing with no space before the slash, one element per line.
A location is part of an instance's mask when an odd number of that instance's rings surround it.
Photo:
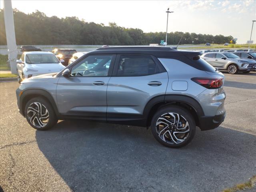
<path fill-rule="evenodd" d="M 17 60 L 18 82 L 32 76 L 60 72 L 64 68 L 51 52 L 24 52 Z"/>

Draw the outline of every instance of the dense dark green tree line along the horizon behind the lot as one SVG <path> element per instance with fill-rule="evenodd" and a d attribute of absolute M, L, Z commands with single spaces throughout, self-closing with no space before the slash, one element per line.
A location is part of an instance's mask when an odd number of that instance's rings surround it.
<path fill-rule="evenodd" d="M 79 20 L 77 17 L 48 17 L 36 10 L 25 14 L 17 9 L 14 13 L 16 43 L 18 45 L 148 45 L 160 44 L 165 40 L 165 32 L 145 33 L 138 28 L 124 28 L 116 23 L 96 24 Z M 233 40 L 232 36 L 209 35 L 183 32 L 168 33 L 168 44 L 204 44 L 206 42 L 224 44 Z M 235 42 L 234 42 L 235 43 Z M 6 45 L 4 11 L 0 10 L 0 45 Z"/>

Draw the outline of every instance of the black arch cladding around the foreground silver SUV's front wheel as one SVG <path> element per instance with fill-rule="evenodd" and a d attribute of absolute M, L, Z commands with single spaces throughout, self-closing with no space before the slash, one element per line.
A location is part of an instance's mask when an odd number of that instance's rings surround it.
<path fill-rule="evenodd" d="M 29 90 L 25 90 L 22 93 L 22 95 L 20 96 L 20 109 L 21 109 L 21 113 L 23 116 L 24 116 L 24 110 L 25 110 L 26 103 L 30 99 L 32 99 L 34 97 L 38 97 L 38 96 L 46 99 L 52 105 L 56 116 L 59 116 L 58 108 L 57 108 L 56 102 L 54 101 L 54 98 L 52 97 L 52 95 L 49 92 L 47 92 L 46 90 L 41 90 L 41 89 L 29 89 Z"/>

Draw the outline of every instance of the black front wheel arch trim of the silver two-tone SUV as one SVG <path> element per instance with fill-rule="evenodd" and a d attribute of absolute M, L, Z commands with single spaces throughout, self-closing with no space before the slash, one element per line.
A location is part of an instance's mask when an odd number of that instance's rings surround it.
<path fill-rule="evenodd" d="M 54 108 L 54 112 L 55 112 L 56 116 L 57 117 L 60 116 L 56 102 L 54 101 L 54 98 L 48 91 L 42 90 L 42 89 L 27 89 L 27 90 L 23 91 L 22 95 L 20 96 L 20 102 L 19 102 L 20 113 L 23 116 L 24 116 L 24 110 L 25 110 L 25 106 L 26 106 L 26 104 L 24 103 L 24 100 L 28 96 L 31 96 L 31 95 L 38 95 L 38 96 L 43 96 L 43 97 L 47 98 L 49 100 L 50 104 L 52 105 L 52 107 Z"/>

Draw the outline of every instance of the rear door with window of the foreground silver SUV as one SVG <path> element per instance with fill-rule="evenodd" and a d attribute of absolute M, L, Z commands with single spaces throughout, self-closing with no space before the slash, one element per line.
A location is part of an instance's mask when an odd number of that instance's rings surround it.
<path fill-rule="evenodd" d="M 108 82 L 107 120 L 139 120 L 147 102 L 164 95 L 168 74 L 150 55 L 120 54 Z"/>

